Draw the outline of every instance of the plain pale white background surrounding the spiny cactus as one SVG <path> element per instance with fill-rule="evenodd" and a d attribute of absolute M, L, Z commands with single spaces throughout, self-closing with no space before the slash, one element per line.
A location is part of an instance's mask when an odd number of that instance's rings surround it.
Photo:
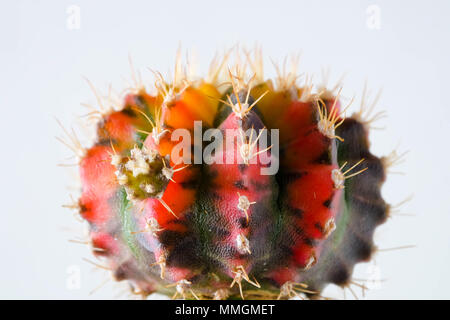
<path fill-rule="evenodd" d="M 70 5 L 81 10 L 80 29 L 67 28 Z M 367 27 L 370 5 L 381 10 L 379 30 Z M 82 76 L 121 90 L 129 54 L 151 79 L 146 68 L 172 68 L 179 43 L 204 71 L 217 49 L 237 42 L 258 42 L 278 61 L 302 52 L 301 72 L 320 75 L 329 66 L 332 79 L 347 72 L 347 96 L 359 98 L 365 79 L 383 88 L 378 108 L 389 117 L 378 123 L 385 130 L 371 133 L 372 149 L 410 150 L 396 168 L 405 174 L 390 175 L 383 194 L 390 203 L 414 194 L 402 212 L 415 216 L 394 216 L 376 241 L 381 249 L 416 247 L 376 255 L 383 282 L 366 298 L 449 298 L 449 9 L 448 1 L 2 2 L 0 298 L 99 299 L 123 291 L 109 282 L 89 295 L 109 275 L 81 260 L 93 259 L 87 246 L 68 242 L 82 228 L 61 208 L 77 181 L 75 169 L 57 167 L 70 152 L 54 138 L 62 134 L 55 117 L 76 125 L 87 112 L 80 102 L 95 102 Z M 266 70 L 274 75 L 270 64 Z M 73 268 L 81 287 L 71 290 Z M 356 276 L 369 270 L 359 265 Z M 326 294 L 342 297 L 333 288 Z"/>

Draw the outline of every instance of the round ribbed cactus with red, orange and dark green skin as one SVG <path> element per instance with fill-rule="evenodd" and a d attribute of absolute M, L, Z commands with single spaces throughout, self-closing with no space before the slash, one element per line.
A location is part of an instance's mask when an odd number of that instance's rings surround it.
<path fill-rule="evenodd" d="M 373 233 L 389 206 L 368 122 L 344 118 L 340 92 L 313 93 L 295 73 L 264 80 L 260 52 L 249 61 L 248 81 L 242 65 L 226 69 L 219 61 L 207 78 L 189 81 L 177 62 L 172 83 L 157 74 L 156 94 L 137 88 L 120 111 L 102 113 L 97 140 L 80 160 L 78 206 L 94 254 L 135 293 L 321 298 L 327 284 L 348 286 L 355 264 L 375 250 Z M 173 163 L 171 132 L 192 133 L 194 121 L 224 135 L 279 129 L 278 172 L 262 175 L 259 157 Z M 237 148 L 216 156 L 245 158 Z M 271 149 L 250 150 L 250 157 L 263 154 Z"/>

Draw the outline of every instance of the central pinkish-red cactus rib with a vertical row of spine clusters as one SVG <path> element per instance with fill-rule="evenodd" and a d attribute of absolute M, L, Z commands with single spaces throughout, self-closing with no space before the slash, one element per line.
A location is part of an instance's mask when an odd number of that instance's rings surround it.
<path fill-rule="evenodd" d="M 256 132 L 249 138 L 245 135 L 248 129 Z M 224 271 L 230 276 L 239 266 L 251 267 L 247 256 L 252 254 L 250 241 L 258 230 L 250 221 L 259 220 L 257 215 L 264 215 L 258 207 L 273 197 L 273 177 L 261 174 L 265 165 L 260 157 L 269 157 L 269 151 L 261 149 L 256 141 L 256 135 L 263 129 L 261 120 L 252 111 L 245 119 L 230 114 L 220 126 L 225 143 L 216 157 L 222 164 L 212 164 L 208 168 L 213 177 L 210 184 L 214 207 L 227 224 L 228 236 L 222 242 L 234 252 L 225 260 Z M 250 140 L 252 136 L 255 140 Z M 243 151 L 246 149 L 247 153 Z M 227 163 L 227 159 L 233 159 L 232 163 Z"/>

